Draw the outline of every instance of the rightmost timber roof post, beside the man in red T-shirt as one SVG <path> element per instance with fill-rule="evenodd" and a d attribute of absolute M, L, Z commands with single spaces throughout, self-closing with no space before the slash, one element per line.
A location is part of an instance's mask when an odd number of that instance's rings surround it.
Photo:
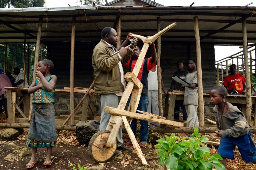
<path fill-rule="evenodd" d="M 248 48 L 247 48 L 247 34 L 246 34 L 246 20 L 242 21 L 243 26 L 243 47 L 244 47 L 244 64 L 245 64 L 245 78 L 246 78 L 246 115 L 245 118 L 249 125 L 252 123 L 252 96 L 251 96 L 251 78 L 248 62 Z"/>

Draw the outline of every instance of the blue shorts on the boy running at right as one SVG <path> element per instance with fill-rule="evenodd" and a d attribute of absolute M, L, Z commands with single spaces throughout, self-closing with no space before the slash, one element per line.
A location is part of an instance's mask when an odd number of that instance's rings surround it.
<path fill-rule="evenodd" d="M 256 161 L 256 147 L 252 140 L 250 130 L 246 135 L 238 136 L 237 138 L 228 136 L 222 137 L 218 154 L 228 159 L 235 159 L 233 150 L 236 146 L 244 161 L 247 163 Z"/>

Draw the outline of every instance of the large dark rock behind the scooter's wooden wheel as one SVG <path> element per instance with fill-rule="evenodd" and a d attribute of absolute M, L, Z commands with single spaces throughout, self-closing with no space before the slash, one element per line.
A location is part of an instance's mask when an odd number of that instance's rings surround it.
<path fill-rule="evenodd" d="M 91 137 L 99 131 L 100 121 L 80 121 L 76 124 L 76 139 L 81 145 L 88 146 Z"/>

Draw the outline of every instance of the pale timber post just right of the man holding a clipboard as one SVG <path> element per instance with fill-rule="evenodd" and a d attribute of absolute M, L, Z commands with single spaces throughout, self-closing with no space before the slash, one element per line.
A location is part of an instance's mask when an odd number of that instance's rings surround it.
<path fill-rule="evenodd" d="M 194 17 L 194 28 L 196 38 L 196 60 L 197 60 L 197 83 L 198 83 L 198 100 L 199 100 L 199 125 L 204 127 L 204 96 L 202 81 L 202 64 L 201 64 L 201 46 L 198 28 L 198 17 Z"/>

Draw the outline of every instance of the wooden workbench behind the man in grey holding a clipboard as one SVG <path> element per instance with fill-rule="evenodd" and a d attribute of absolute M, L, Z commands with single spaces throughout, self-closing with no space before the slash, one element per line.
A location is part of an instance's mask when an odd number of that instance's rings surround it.
<path fill-rule="evenodd" d="M 210 101 L 209 94 L 204 93 L 204 102 Z M 173 121 L 174 117 L 174 107 L 176 100 L 183 100 L 184 94 L 183 93 L 176 93 L 176 92 L 169 92 L 166 99 L 165 99 L 165 115 L 168 115 L 168 120 Z M 256 102 L 256 96 L 252 96 L 252 104 Z M 246 95 L 227 95 L 226 98 L 227 102 L 231 103 L 240 103 L 242 104 L 242 112 L 246 115 Z M 254 106 L 256 107 L 256 105 Z M 254 108 L 255 110 L 256 108 Z"/>

